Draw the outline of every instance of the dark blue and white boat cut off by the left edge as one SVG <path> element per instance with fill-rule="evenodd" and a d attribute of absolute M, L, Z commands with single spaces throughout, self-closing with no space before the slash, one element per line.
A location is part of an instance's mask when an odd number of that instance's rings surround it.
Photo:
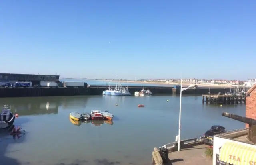
<path fill-rule="evenodd" d="M 14 120 L 15 114 L 12 113 L 11 110 L 8 109 L 7 105 L 5 104 L 4 109 L 0 114 L 0 129 L 9 128 L 10 126 L 12 126 Z"/>

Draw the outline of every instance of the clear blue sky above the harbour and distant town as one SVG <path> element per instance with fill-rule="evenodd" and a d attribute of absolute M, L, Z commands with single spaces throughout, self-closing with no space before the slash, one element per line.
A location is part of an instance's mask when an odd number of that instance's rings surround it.
<path fill-rule="evenodd" d="M 256 77 L 255 0 L 1 0 L 2 73 Z"/>

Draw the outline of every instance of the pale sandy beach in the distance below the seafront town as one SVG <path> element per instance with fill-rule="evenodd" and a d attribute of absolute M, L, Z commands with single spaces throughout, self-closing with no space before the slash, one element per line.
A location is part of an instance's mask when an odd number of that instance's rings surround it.
<path fill-rule="evenodd" d="M 106 81 L 115 81 L 116 80 L 106 80 Z M 169 86 L 169 85 L 180 85 L 180 83 L 164 83 L 164 82 L 148 82 L 148 81 L 120 81 L 122 83 L 143 83 L 143 84 L 156 84 L 157 85 L 166 85 L 166 86 Z M 182 83 L 182 86 L 189 86 L 193 83 Z M 230 84 L 196 84 L 198 85 L 198 87 L 220 87 L 220 88 L 228 88 L 228 87 L 232 87 L 232 85 Z"/>

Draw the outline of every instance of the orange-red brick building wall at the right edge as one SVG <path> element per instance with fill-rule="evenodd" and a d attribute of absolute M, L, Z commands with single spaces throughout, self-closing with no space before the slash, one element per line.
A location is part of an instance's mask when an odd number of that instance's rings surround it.
<path fill-rule="evenodd" d="M 246 117 L 256 119 L 256 84 L 246 93 Z M 248 128 L 248 124 L 246 124 Z"/>

